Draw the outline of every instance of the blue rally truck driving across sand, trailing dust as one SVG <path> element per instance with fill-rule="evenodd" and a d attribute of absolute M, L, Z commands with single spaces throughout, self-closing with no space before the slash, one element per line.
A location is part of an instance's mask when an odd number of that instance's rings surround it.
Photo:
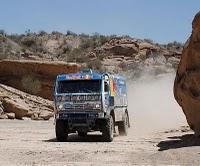
<path fill-rule="evenodd" d="M 58 141 L 66 141 L 69 133 L 86 136 L 90 131 L 100 131 L 103 140 L 111 142 L 115 126 L 119 135 L 127 135 L 127 90 L 121 76 L 91 69 L 60 74 L 55 82 L 54 101 Z"/>

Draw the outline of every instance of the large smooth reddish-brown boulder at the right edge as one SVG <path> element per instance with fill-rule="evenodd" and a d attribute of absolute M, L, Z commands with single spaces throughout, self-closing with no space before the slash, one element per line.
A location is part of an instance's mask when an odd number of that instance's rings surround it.
<path fill-rule="evenodd" d="M 174 95 L 189 126 L 200 136 L 200 12 L 195 16 L 192 28 L 178 66 Z"/>

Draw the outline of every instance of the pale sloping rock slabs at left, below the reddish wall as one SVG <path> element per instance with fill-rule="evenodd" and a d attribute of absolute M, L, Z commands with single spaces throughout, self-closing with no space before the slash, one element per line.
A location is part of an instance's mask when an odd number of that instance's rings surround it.
<path fill-rule="evenodd" d="M 0 119 L 24 117 L 49 120 L 53 117 L 52 101 L 0 84 Z"/>

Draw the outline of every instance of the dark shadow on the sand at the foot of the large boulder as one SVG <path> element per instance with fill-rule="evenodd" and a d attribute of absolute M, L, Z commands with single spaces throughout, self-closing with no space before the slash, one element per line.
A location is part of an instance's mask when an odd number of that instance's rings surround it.
<path fill-rule="evenodd" d="M 161 141 L 158 143 L 159 151 L 177 149 L 190 146 L 200 146 L 200 138 L 194 134 L 186 134 L 182 136 L 168 137 L 170 140 Z"/>

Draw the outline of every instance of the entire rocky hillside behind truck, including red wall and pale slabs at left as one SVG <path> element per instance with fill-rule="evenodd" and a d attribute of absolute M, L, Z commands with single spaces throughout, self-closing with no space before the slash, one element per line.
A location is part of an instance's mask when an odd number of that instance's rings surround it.
<path fill-rule="evenodd" d="M 181 52 L 177 42 L 160 45 L 128 36 L 0 31 L 0 118 L 52 117 L 57 74 L 88 67 L 134 78 L 143 71 L 157 75 L 176 69 Z"/>

